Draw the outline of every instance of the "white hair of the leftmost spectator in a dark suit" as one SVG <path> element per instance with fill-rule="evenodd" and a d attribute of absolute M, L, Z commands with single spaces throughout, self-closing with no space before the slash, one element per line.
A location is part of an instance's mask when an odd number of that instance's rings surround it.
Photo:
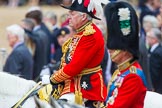
<path fill-rule="evenodd" d="M 14 24 L 14 25 L 8 26 L 6 28 L 6 30 L 7 30 L 7 32 L 11 33 L 12 35 L 17 36 L 19 38 L 19 41 L 24 42 L 25 31 L 22 27 L 20 27 L 17 24 Z"/>

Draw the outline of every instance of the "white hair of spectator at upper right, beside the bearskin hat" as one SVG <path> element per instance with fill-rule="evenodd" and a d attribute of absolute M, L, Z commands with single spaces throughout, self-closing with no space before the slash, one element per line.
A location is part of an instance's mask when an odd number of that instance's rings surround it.
<path fill-rule="evenodd" d="M 157 28 L 159 26 L 158 19 L 153 15 L 146 15 L 143 18 L 143 23 L 145 22 L 150 22 L 153 28 Z"/>

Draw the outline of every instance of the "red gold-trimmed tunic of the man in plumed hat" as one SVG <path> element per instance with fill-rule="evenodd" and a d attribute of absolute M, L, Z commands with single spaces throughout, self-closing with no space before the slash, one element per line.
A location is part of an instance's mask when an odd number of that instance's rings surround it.
<path fill-rule="evenodd" d="M 100 67 L 104 56 L 103 36 L 92 23 L 87 23 L 82 28 L 66 43 L 68 50 L 63 56 L 62 68 L 50 79 L 53 83 L 65 82 L 62 95 L 75 92 L 77 88 L 80 89 L 83 98 L 105 101 L 107 88 L 103 82 L 102 69 L 96 68 Z M 87 69 L 90 69 L 89 74 L 82 75 Z"/>

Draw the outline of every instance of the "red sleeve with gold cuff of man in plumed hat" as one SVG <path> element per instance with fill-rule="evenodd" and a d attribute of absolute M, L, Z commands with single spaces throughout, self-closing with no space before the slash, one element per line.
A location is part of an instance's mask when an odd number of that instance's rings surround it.
<path fill-rule="evenodd" d="M 79 41 L 69 64 L 58 70 L 52 77 L 54 83 L 72 78 L 86 68 L 100 65 L 104 56 L 104 40 L 101 32 L 96 29 L 93 35 L 83 36 Z"/>

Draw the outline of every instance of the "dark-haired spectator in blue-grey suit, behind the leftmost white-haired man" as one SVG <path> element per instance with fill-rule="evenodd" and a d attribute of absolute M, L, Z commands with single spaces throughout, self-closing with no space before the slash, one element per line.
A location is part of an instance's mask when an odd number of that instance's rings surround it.
<path fill-rule="evenodd" d="M 42 12 L 40 10 L 29 11 L 26 14 L 26 18 L 31 18 L 34 21 L 33 34 L 37 35 L 43 45 L 41 48 L 41 53 L 43 56 L 39 56 L 39 66 L 36 66 L 34 79 L 39 79 L 39 74 L 44 65 L 48 63 L 49 51 L 50 51 L 50 41 L 48 35 L 44 32 L 41 27 L 42 24 Z"/>

